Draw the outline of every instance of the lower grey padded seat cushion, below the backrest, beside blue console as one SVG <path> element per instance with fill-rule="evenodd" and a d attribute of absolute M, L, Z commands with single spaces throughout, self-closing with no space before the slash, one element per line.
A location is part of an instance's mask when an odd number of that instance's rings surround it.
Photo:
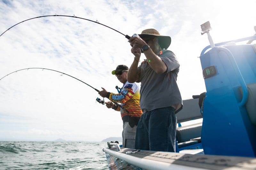
<path fill-rule="evenodd" d="M 190 139 L 199 138 L 201 137 L 201 131 L 202 131 L 202 123 L 190 124 L 187 126 L 178 127 L 176 130 L 176 140 L 178 143 L 182 143 L 182 142 L 190 141 Z"/>

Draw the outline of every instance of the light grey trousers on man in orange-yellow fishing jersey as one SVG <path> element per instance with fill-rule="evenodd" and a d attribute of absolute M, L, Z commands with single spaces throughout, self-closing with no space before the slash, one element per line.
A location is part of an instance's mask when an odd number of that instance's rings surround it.
<path fill-rule="evenodd" d="M 135 125 L 133 128 L 129 125 L 129 122 L 123 123 L 123 147 L 125 148 L 135 148 L 135 136 L 136 136 L 137 126 Z"/>

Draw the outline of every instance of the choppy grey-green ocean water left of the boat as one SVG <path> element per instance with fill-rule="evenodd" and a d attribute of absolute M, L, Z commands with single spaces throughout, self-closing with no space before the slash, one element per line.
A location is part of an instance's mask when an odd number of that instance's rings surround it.
<path fill-rule="evenodd" d="M 0 169 L 108 169 L 107 143 L 0 141 Z"/>

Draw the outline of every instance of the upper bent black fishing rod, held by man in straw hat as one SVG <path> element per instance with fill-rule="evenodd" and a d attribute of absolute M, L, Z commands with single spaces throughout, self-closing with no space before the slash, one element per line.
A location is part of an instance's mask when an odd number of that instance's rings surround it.
<path fill-rule="evenodd" d="M 114 31 L 116 31 L 116 32 L 118 32 L 118 33 L 124 35 L 125 38 L 127 38 L 127 39 L 130 39 L 130 38 L 131 38 L 129 35 L 125 35 L 125 34 L 123 34 L 122 32 L 119 32 L 119 31 L 115 30 L 114 28 L 111 28 L 110 26 L 107 26 L 107 25 L 104 25 L 104 24 L 99 23 L 98 20 L 92 21 L 92 20 L 90 20 L 90 19 L 81 18 L 81 17 L 76 17 L 75 15 L 74 15 L 74 16 L 69 16 L 69 15 L 57 15 L 57 14 L 55 14 L 55 15 L 44 15 L 44 16 L 39 16 L 39 17 L 34 17 L 34 18 L 26 19 L 26 20 L 24 20 L 24 21 L 21 21 L 21 22 L 15 24 L 15 25 L 11 26 L 11 27 L 8 28 L 5 32 L 7 32 L 8 30 L 10 30 L 12 27 L 14 27 L 14 26 L 16 26 L 16 25 L 18 25 L 18 24 L 20 24 L 20 23 L 23 23 L 23 22 L 25 22 L 25 21 L 28 21 L 28 20 L 31 20 L 31 19 L 36 19 L 36 18 L 43 18 L 43 17 L 71 17 L 71 18 L 84 19 L 84 20 L 87 20 L 87 21 L 94 22 L 94 23 L 96 23 L 96 24 L 103 25 L 103 26 L 105 26 L 105 27 L 107 27 L 107 28 L 110 28 L 110 29 L 112 29 L 112 30 L 114 30 Z M 0 35 L 0 37 L 1 37 L 5 32 L 3 32 L 3 33 Z"/>

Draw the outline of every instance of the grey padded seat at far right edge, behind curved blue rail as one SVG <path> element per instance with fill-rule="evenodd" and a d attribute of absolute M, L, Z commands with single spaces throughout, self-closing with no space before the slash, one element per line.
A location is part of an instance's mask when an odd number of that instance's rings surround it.
<path fill-rule="evenodd" d="M 247 89 L 248 98 L 245 104 L 245 108 L 252 124 L 256 125 L 256 83 L 247 84 Z M 243 95 L 243 90 L 241 87 L 240 92 Z"/>

